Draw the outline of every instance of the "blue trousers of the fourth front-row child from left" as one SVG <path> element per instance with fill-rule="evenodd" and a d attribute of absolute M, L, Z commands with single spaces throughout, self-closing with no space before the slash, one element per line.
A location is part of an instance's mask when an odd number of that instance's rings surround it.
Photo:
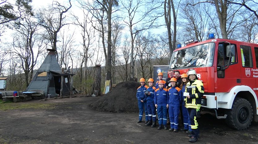
<path fill-rule="evenodd" d="M 178 130 L 178 116 L 180 106 L 169 106 L 170 128 Z"/>

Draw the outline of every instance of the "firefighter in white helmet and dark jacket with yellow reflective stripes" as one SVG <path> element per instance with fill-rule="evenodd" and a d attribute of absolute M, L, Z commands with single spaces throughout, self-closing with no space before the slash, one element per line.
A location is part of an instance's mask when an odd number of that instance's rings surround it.
<path fill-rule="evenodd" d="M 196 118 L 200 118 L 201 97 L 204 94 L 203 83 L 198 80 L 196 71 L 191 69 L 187 72 L 189 82 L 186 85 L 185 92 L 189 93 L 184 99 L 185 106 L 190 116 L 192 134 L 189 142 L 197 142 L 199 137 L 198 122 Z"/>

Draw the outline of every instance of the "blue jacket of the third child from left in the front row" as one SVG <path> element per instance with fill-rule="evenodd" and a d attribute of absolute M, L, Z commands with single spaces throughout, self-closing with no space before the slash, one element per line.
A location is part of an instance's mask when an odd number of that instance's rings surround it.
<path fill-rule="evenodd" d="M 154 92 L 154 104 L 158 106 L 166 106 L 168 104 L 168 90 L 166 88 L 158 88 Z"/>

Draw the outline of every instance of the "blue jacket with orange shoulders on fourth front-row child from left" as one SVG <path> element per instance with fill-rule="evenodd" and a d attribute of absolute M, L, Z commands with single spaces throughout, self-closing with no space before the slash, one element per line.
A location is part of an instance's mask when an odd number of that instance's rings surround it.
<path fill-rule="evenodd" d="M 169 106 L 180 106 L 182 104 L 182 92 L 177 86 L 168 89 Z"/>

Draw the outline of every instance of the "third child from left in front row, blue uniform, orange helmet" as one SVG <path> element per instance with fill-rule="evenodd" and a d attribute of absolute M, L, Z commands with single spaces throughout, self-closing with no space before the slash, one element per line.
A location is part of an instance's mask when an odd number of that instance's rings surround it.
<path fill-rule="evenodd" d="M 164 88 L 164 81 L 159 81 L 158 86 L 159 88 L 154 92 L 154 104 L 157 108 L 158 112 L 158 122 L 159 127 L 158 130 L 162 128 L 162 124 L 164 126 L 164 130 L 167 130 L 167 108 L 168 108 L 168 90 Z"/>

